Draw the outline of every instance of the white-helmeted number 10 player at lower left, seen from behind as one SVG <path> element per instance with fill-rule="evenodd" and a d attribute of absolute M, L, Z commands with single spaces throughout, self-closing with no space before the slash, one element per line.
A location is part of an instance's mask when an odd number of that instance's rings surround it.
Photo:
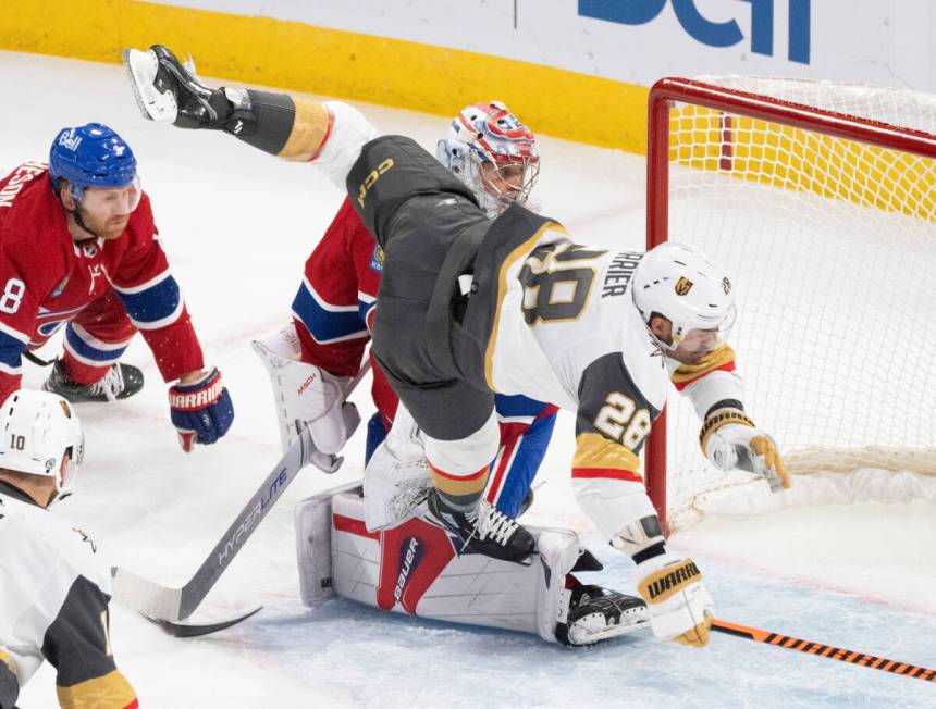
<path fill-rule="evenodd" d="M 42 660 L 62 707 L 133 709 L 108 621 L 110 574 L 84 532 L 46 508 L 71 492 L 84 435 L 71 405 L 21 389 L 0 410 L 0 709 Z"/>

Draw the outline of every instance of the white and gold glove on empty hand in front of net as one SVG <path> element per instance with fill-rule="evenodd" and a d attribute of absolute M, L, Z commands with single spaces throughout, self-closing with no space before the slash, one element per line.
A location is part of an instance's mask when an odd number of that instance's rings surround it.
<path fill-rule="evenodd" d="M 719 470 L 739 468 L 765 478 L 771 492 L 790 486 L 790 474 L 767 434 L 754 427 L 743 411 L 719 409 L 705 419 L 699 434 L 702 452 Z"/>

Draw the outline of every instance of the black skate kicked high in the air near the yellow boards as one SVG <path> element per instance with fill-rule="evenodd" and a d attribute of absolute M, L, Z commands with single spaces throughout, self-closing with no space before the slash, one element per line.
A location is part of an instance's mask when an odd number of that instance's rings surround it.
<path fill-rule="evenodd" d="M 162 45 L 149 51 L 125 49 L 136 103 L 150 121 L 171 121 L 180 128 L 213 128 L 250 135 L 256 116 L 244 89 L 205 86 L 175 54 Z"/>

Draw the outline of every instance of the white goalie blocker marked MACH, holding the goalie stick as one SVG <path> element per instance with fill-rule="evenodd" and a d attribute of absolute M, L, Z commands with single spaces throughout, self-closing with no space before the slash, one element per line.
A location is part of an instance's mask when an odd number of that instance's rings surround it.
<path fill-rule="evenodd" d="M 270 375 L 283 451 L 308 426 L 320 453 L 320 460 L 313 460 L 316 465 L 325 472 L 333 472 L 330 465 L 337 470 L 334 456 L 360 423 L 357 407 L 344 401 L 350 378 L 303 362 L 292 323 L 254 340 L 251 346 Z"/>

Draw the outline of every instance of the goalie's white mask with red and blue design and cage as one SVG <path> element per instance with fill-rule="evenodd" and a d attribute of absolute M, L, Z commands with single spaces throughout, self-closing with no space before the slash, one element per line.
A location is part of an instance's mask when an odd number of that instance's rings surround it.
<path fill-rule="evenodd" d="M 471 188 L 489 216 L 496 216 L 513 202 L 527 204 L 540 174 L 535 136 L 501 101 L 466 105 L 452 121 L 448 135 L 439 141 L 435 157 Z M 483 178 L 482 163 L 493 165 L 498 182 L 508 184 L 510 191 Z"/>

